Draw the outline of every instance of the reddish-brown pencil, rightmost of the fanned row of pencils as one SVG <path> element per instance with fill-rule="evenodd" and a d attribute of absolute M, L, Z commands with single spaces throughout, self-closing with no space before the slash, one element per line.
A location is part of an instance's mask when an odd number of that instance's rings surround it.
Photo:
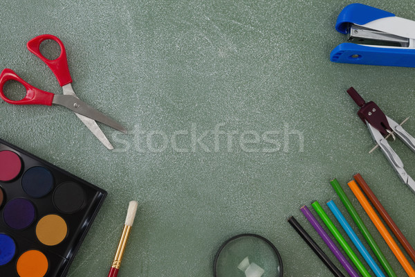
<path fill-rule="evenodd" d="M 396 226 L 394 220 L 392 220 L 389 213 L 387 213 L 385 208 L 383 208 L 382 204 L 380 204 L 378 197 L 376 197 L 374 192 L 369 188 L 366 181 L 359 173 L 354 175 L 353 177 L 358 182 L 360 188 L 362 188 L 362 190 L 365 192 L 365 195 L 367 196 L 367 198 L 369 198 L 371 204 L 374 205 L 376 211 L 378 211 L 383 220 L 385 220 L 387 226 L 389 226 L 389 229 L 391 229 L 392 233 L 394 233 L 396 238 L 398 238 L 400 244 L 402 244 L 403 248 L 408 253 L 409 257 L 411 257 L 412 261 L 415 262 L 414 248 L 412 248 L 411 244 L 409 244 L 408 240 L 405 238 L 405 235 L 403 235 L 398 226 Z"/>

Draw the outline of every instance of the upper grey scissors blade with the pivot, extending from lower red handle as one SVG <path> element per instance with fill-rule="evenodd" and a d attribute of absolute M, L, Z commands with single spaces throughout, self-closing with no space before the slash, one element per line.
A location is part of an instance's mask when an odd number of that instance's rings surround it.
<path fill-rule="evenodd" d="M 93 107 L 87 105 L 76 96 L 55 94 L 53 97 L 53 104 L 62 105 L 68 109 L 71 109 L 71 111 L 74 111 L 77 114 L 82 114 L 82 116 L 86 116 L 93 120 L 99 121 L 100 123 L 104 123 L 113 129 L 118 129 L 118 131 L 123 132 L 124 134 L 127 133 L 127 129 L 122 127 L 120 123 L 109 118 L 108 116 L 105 116 L 102 114 L 102 112 L 94 109 Z"/>

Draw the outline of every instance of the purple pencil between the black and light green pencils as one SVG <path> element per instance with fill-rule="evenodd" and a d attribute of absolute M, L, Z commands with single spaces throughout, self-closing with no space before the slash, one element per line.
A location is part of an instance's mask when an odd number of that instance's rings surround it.
<path fill-rule="evenodd" d="M 347 273 L 352 277 L 359 277 L 359 274 L 356 272 L 355 269 L 350 265 L 350 262 L 344 257 L 342 252 L 338 249 L 338 247 L 335 245 L 333 240 L 327 235 L 326 231 L 324 231 L 323 227 L 320 225 L 319 222 L 315 219 L 314 215 L 311 213 L 310 210 L 308 210 L 307 206 L 304 205 L 300 208 L 304 216 L 307 218 L 308 222 L 314 227 L 315 231 L 322 237 L 324 242 L 327 244 L 331 252 L 333 252 L 335 258 L 337 258 L 342 264 L 342 267 L 346 269 Z"/>

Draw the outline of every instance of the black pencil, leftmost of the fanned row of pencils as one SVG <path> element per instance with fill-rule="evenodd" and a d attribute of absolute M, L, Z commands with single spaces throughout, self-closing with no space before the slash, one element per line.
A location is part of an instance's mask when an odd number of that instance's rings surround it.
<path fill-rule="evenodd" d="M 295 220 L 295 217 L 291 216 L 288 218 L 288 223 L 293 226 L 295 231 L 302 237 L 302 239 L 308 244 L 308 246 L 313 249 L 314 253 L 324 262 L 324 265 L 328 267 L 331 271 L 331 273 L 335 277 L 344 277 L 342 272 L 333 264 L 333 262 L 330 260 L 330 258 L 324 253 L 324 251 L 315 243 L 313 238 L 311 238 L 310 235 L 304 230 L 304 228 Z"/>

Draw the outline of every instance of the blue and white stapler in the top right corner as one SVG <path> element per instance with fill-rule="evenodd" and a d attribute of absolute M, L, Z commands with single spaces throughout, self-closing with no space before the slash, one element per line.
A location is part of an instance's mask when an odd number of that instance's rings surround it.
<path fill-rule="evenodd" d="M 415 67 L 415 21 L 353 3 L 340 12 L 335 29 L 349 42 L 331 51 L 331 62 Z"/>

